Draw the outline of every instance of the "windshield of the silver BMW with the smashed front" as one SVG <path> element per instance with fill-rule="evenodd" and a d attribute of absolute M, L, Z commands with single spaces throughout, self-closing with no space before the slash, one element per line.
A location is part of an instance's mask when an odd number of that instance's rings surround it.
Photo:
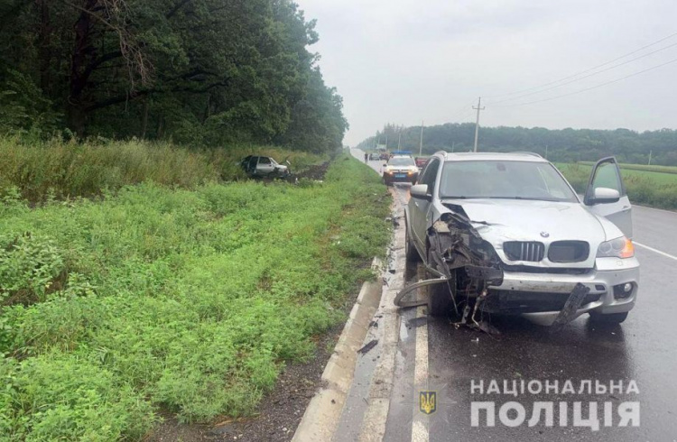
<path fill-rule="evenodd" d="M 446 162 L 440 196 L 578 201 L 552 164 L 533 161 Z"/>

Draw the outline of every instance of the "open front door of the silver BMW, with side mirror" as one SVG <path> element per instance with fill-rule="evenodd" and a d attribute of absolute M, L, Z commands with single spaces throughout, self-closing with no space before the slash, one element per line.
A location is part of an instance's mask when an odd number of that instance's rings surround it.
<path fill-rule="evenodd" d="M 633 237 L 632 206 L 627 198 L 616 157 L 597 161 L 592 168 L 583 203 L 589 211 L 605 216 L 628 238 Z"/>

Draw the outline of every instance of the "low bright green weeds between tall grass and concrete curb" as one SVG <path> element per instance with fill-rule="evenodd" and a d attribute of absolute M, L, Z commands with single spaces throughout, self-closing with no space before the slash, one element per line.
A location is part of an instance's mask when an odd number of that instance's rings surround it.
<path fill-rule="evenodd" d="M 344 320 L 390 198 L 343 155 L 323 183 L 125 186 L 0 203 L 0 439 L 140 440 L 255 411 Z"/>

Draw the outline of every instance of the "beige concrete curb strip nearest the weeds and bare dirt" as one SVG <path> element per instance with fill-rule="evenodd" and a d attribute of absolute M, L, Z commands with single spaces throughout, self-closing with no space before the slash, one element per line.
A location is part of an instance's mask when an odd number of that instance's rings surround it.
<path fill-rule="evenodd" d="M 381 262 L 374 258 L 372 266 L 380 269 Z M 381 281 L 366 281 L 362 284 L 334 353 L 322 373 L 324 387 L 308 404 L 292 441 L 331 440 L 334 436 L 355 375 L 357 350 L 363 345 L 369 322 L 381 300 L 382 290 Z"/>

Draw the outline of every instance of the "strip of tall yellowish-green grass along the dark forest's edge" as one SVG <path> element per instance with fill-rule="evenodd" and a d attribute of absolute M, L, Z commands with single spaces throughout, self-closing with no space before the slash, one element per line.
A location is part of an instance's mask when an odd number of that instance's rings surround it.
<path fill-rule="evenodd" d="M 154 182 L 195 189 L 209 182 L 243 179 L 239 161 L 248 154 L 289 159 L 292 171 L 325 160 L 306 152 L 266 146 L 228 146 L 209 151 L 170 143 L 60 140 L 39 145 L 0 138 L 0 197 L 17 191 L 30 201 L 101 195 L 130 184 Z"/>

